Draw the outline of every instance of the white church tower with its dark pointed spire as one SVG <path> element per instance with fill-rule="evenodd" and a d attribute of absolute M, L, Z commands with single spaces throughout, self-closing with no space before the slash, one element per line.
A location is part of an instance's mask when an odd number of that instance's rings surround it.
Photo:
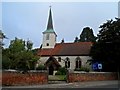
<path fill-rule="evenodd" d="M 56 44 L 56 33 L 53 28 L 51 6 L 49 10 L 47 29 L 43 32 L 42 49 L 54 48 Z"/>

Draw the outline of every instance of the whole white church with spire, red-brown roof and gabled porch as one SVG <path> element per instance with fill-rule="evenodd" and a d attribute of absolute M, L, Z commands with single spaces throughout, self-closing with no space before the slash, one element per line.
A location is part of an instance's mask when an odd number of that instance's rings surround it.
<path fill-rule="evenodd" d="M 56 37 L 50 7 L 47 28 L 43 32 L 43 41 L 37 53 L 40 57 L 38 64 L 44 64 L 50 75 L 59 67 L 71 70 L 81 66 L 90 67 L 87 61 L 91 59 L 89 53 L 92 42 L 57 43 Z"/>

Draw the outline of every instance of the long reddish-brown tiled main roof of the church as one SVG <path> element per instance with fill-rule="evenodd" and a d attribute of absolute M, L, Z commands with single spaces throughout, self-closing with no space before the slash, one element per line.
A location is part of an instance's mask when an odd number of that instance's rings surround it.
<path fill-rule="evenodd" d="M 39 56 L 79 56 L 89 55 L 91 42 L 57 43 L 52 49 L 39 49 Z"/>

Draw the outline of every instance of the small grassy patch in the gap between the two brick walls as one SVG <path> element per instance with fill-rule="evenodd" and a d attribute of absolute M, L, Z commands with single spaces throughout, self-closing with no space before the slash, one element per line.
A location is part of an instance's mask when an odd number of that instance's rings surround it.
<path fill-rule="evenodd" d="M 48 80 L 51 81 L 65 81 L 66 75 L 49 75 Z"/>

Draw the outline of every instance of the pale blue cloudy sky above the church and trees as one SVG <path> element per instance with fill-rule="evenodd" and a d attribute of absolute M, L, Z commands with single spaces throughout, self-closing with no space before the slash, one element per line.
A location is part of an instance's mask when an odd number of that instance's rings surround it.
<path fill-rule="evenodd" d="M 42 44 L 46 30 L 49 6 L 52 6 L 53 26 L 57 42 L 73 42 L 83 28 L 90 27 L 95 35 L 99 26 L 118 17 L 118 2 L 2 2 L 0 28 L 8 37 L 8 47 L 15 37 L 31 40 L 34 48 Z"/>

